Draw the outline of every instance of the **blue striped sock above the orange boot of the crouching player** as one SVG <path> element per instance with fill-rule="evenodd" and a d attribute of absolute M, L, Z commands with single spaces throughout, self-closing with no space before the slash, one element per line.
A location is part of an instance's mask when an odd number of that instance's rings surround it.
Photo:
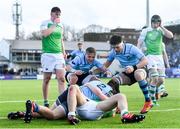
<path fill-rule="evenodd" d="M 146 80 L 138 81 L 139 87 L 141 88 L 146 102 L 150 102 L 151 98 L 148 91 L 148 83 Z"/>

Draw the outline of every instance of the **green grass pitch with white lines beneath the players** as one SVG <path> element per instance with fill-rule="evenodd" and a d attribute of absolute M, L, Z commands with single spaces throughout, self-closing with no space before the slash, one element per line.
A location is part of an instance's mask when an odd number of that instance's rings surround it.
<path fill-rule="evenodd" d="M 107 81 L 107 79 L 104 79 Z M 25 101 L 42 100 L 41 80 L 0 80 L 0 128 L 74 128 L 67 120 L 34 119 L 30 124 L 23 120 L 8 120 L 11 111 L 24 110 Z M 57 82 L 50 84 L 49 99 L 58 96 Z M 99 121 L 83 120 L 76 128 L 179 128 L 180 127 L 180 79 L 166 79 L 167 98 L 159 100 L 159 107 L 153 107 L 141 123 L 122 124 L 119 115 L 103 118 Z M 138 113 L 143 106 L 143 95 L 137 84 L 120 87 L 128 99 L 129 110 Z M 5 102 L 6 101 L 6 102 Z M 19 102 L 7 102 L 19 101 Z M 24 101 L 24 102 L 21 102 Z M 42 104 L 42 101 L 38 101 Z M 172 110 L 171 110 L 172 109 Z"/>

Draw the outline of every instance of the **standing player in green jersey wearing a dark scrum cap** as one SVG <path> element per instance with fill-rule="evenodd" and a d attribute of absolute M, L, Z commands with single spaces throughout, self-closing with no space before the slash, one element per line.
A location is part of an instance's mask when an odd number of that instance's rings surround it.
<path fill-rule="evenodd" d="M 154 105 L 158 105 L 156 101 L 156 87 L 164 82 L 165 67 L 162 56 L 162 38 L 173 38 L 172 32 L 161 25 L 159 15 L 153 15 L 151 18 L 151 27 L 143 29 L 138 39 L 138 45 L 145 43 L 147 48 L 146 54 L 148 59 L 148 71 L 150 76 L 150 95 Z"/>

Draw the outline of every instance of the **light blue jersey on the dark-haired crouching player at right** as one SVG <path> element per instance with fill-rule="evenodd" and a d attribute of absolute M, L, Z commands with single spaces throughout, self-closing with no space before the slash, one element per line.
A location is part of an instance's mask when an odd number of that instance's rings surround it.
<path fill-rule="evenodd" d="M 117 53 L 112 49 L 107 60 L 112 62 L 114 59 L 117 59 L 122 67 L 126 67 L 137 65 L 142 57 L 144 57 L 144 54 L 140 49 L 130 43 L 125 43 L 122 52 Z"/>

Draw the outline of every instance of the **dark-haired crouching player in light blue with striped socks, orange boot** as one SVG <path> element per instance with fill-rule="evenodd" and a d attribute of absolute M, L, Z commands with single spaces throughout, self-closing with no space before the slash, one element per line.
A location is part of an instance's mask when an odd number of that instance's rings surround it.
<path fill-rule="evenodd" d="M 112 50 L 110 51 L 104 66 L 108 68 L 114 59 L 117 59 L 124 70 L 113 77 L 119 85 L 132 85 L 138 82 L 145 97 L 145 104 L 141 113 L 147 113 L 152 108 L 152 102 L 148 93 L 148 83 L 146 81 L 147 65 L 145 55 L 134 45 L 125 44 L 120 36 L 112 36 L 110 39 Z"/>

